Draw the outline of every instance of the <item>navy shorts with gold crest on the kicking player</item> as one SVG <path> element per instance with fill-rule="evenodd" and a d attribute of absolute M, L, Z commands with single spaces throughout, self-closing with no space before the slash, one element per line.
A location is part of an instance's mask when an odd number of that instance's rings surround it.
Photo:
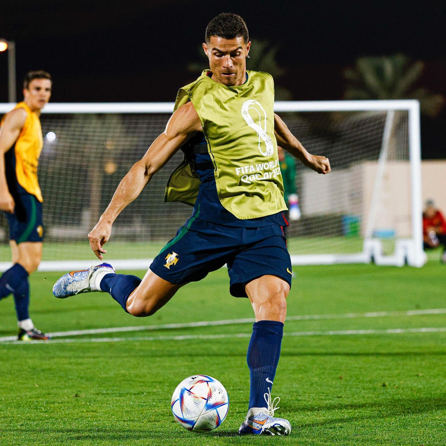
<path fill-rule="evenodd" d="M 191 217 L 155 257 L 150 269 L 174 284 L 199 281 L 227 264 L 229 292 L 247 297 L 260 276 L 281 277 L 291 288 L 291 259 L 282 227 L 229 227 Z"/>

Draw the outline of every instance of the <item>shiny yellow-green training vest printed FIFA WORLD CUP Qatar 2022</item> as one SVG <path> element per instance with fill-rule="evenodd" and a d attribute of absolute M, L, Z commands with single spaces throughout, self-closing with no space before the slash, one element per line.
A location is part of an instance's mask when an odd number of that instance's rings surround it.
<path fill-rule="evenodd" d="M 223 207 L 238 219 L 254 219 L 287 209 L 274 136 L 274 83 L 268 73 L 248 71 L 243 85 L 227 87 L 204 70 L 180 88 L 175 108 L 192 101 L 214 164 Z M 186 158 L 173 171 L 165 201 L 194 205 L 200 180 Z"/>

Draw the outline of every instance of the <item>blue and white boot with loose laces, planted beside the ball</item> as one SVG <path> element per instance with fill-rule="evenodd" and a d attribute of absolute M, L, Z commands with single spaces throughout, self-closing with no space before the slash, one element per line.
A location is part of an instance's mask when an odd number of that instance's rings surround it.
<path fill-rule="evenodd" d="M 264 399 L 267 407 L 249 409 L 246 420 L 240 426 L 239 434 L 289 435 L 291 432 L 289 421 L 274 417 L 274 412 L 279 409 L 277 405 L 280 398 L 277 396 L 271 401 L 271 392 L 268 387 L 268 393 L 264 394 Z"/>

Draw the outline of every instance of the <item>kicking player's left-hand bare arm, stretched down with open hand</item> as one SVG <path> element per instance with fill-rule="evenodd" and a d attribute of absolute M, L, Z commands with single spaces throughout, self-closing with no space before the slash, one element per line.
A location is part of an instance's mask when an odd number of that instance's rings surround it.
<path fill-rule="evenodd" d="M 165 131 L 153 141 L 144 157 L 137 161 L 121 180 L 107 209 L 88 234 L 91 249 L 99 259 L 102 260 L 102 254 L 107 252 L 103 245 L 110 238 L 111 225 L 116 217 L 138 197 L 153 175 L 178 149 L 199 132 L 202 132 L 202 126 L 192 103 L 183 105 L 173 113 Z"/>

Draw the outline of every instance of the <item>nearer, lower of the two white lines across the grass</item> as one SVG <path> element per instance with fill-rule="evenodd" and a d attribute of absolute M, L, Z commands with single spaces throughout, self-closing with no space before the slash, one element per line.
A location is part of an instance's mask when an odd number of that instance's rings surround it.
<path fill-rule="evenodd" d="M 388 328 L 382 330 L 328 330 L 328 331 L 293 331 L 284 333 L 286 336 L 351 336 L 351 335 L 402 335 L 405 333 L 442 333 L 446 327 L 421 328 Z M 250 338 L 251 333 L 230 333 L 222 335 L 181 335 L 181 336 L 135 336 L 132 338 L 90 338 L 90 339 L 54 339 L 50 341 L 4 341 L 3 345 L 27 344 L 68 344 L 68 343 L 98 343 L 98 342 L 135 342 L 135 341 L 186 341 L 190 339 L 225 339 Z"/>

